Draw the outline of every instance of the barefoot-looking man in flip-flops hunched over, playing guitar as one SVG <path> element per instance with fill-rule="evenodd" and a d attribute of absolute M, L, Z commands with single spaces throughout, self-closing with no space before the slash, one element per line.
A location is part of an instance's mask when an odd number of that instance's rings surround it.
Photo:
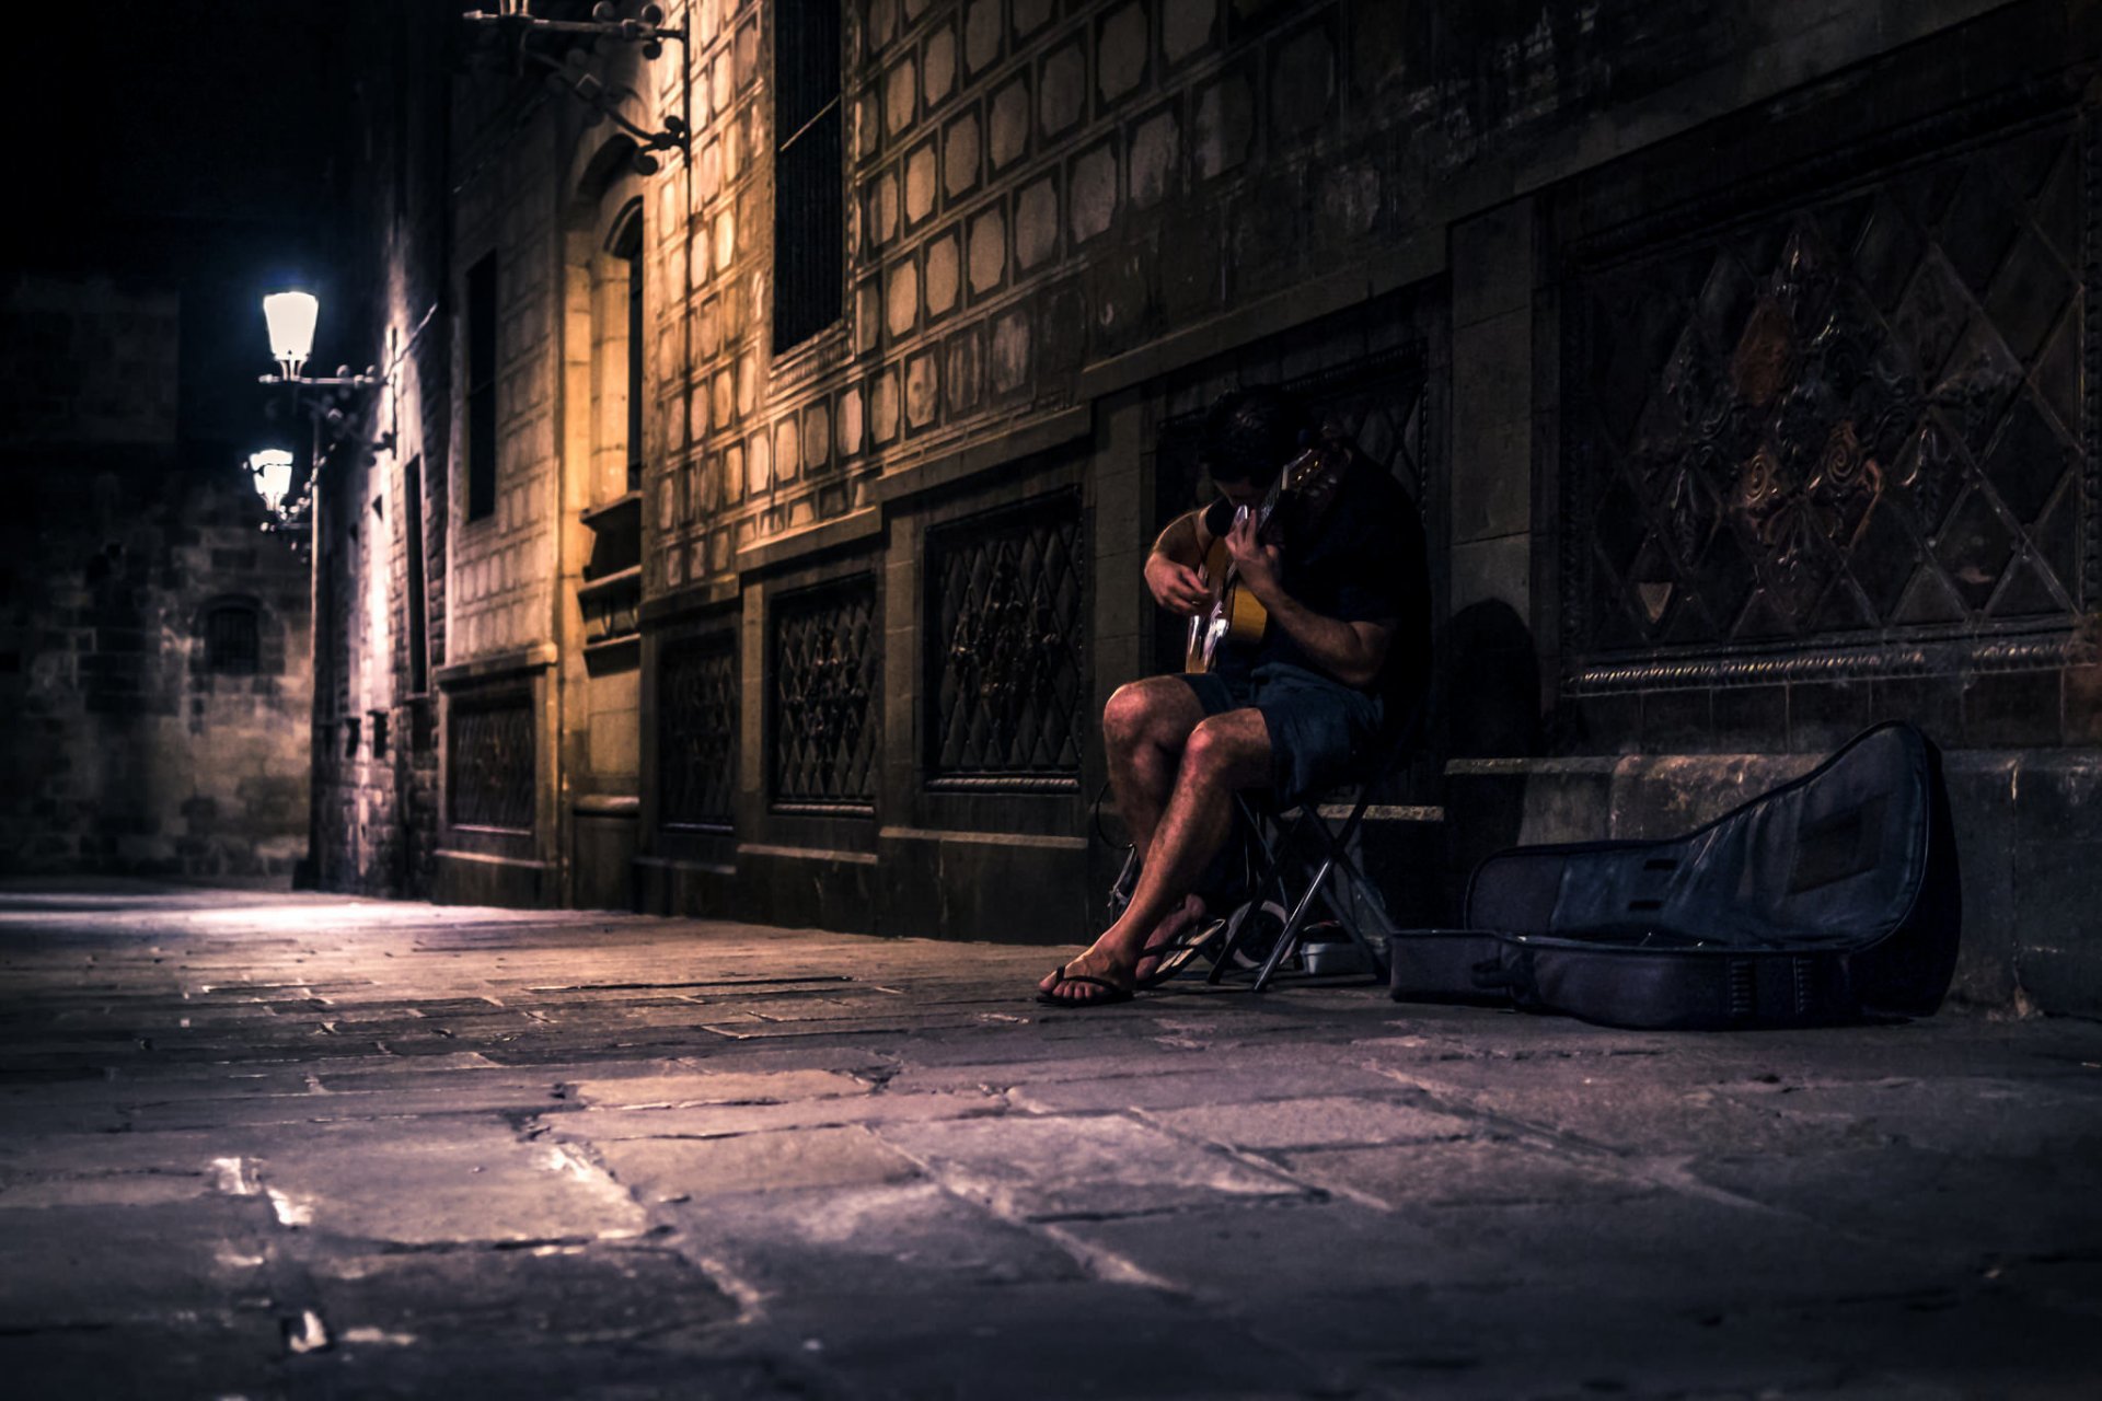
<path fill-rule="evenodd" d="M 1307 447 L 1343 458 L 1326 475 L 1333 489 L 1278 494 L 1259 529 L 1272 485 Z M 1268 628 L 1249 655 L 1110 697 L 1101 733 L 1139 880 L 1116 924 L 1038 983 L 1038 1000 L 1055 1006 L 1127 1002 L 1179 966 L 1165 960 L 1202 926 L 1207 886 L 1219 899 L 1209 867 L 1232 832 L 1232 794 L 1270 788 L 1280 807 L 1318 798 L 1371 762 L 1387 718 L 1423 689 L 1423 523 L 1400 483 L 1347 443 L 1318 439 L 1276 386 L 1223 395 L 1204 416 L 1198 462 L 1219 500 L 1160 531 L 1146 586 L 1171 613 L 1204 615 L 1217 582 L 1202 561 L 1223 540 Z"/>

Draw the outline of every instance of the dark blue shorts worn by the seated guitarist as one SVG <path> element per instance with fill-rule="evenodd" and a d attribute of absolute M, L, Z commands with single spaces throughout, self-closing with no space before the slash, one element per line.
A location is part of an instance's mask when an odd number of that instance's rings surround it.
<path fill-rule="evenodd" d="M 1278 807 L 1364 777 L 1379 756 L 1381 704 L 1291 662 L 1242 674 L 1183 674 L 1204 714 L 1255 706 L 1270 729 L 1270 790 Z"/>

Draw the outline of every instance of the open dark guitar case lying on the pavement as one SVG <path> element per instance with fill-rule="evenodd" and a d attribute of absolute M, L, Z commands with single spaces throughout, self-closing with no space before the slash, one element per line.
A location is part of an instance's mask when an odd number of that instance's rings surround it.
<path fill-rule="evenodd" d="M 1392 991 L 1644 1029 L 1925 1017 L 1961 903 L 1940 754 L 1888 723 L 1686 836 L 1488 857 L 1467 928 L 1387 941 Z"/>

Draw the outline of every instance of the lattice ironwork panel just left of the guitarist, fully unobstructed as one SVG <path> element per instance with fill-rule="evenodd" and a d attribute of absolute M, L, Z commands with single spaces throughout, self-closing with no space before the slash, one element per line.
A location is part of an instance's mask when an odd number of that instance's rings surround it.
<path fill-rule="evenodd" d="M 1072 492 L 929 531 L 929 788 L 1078 788 L 1085 580 Z"/>

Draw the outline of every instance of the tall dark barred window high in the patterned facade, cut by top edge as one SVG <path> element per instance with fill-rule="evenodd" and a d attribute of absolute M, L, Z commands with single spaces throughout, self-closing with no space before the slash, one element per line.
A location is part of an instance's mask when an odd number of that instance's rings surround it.
<path fill-rule="evenodd" d="M 839 141 L 839 0 L 774 8 L 774 353 L 841 315 L 845 170 Z"/>

